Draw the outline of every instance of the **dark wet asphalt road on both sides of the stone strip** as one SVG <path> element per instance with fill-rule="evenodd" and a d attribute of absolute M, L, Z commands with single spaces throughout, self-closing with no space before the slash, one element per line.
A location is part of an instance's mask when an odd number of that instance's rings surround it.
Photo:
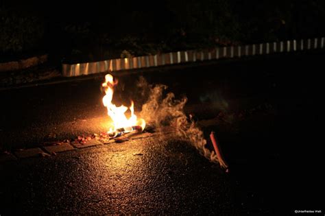
<path fill-rule="evenodd" d="M 206 139 L 217 132 L 230 173 L 190 143 L 156 134 L 1 164 L 0 215 L 324 211 L 323 61 L 324 53 L 299 53 L 141 72 L 150 84 L 186 95 L 185 111 L 199 122 L 243 112 L 243 119 L 202 124 Z M 0 92 L 1 146 L 33 147 L 49 132 L 58 139 L 101 132 L 103 77 Z M 133 98 L 141 104 L 139 74 L 117 77 L 117 103 Z"/>

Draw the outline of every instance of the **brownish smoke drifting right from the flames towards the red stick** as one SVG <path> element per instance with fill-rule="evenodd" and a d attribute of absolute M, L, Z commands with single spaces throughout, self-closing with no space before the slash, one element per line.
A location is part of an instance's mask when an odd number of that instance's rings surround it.
<path fill-rule="evenodd" d="M 171 126 L 176 130 L 180 139 L 191 143 L 208 160 L 218 163 L 215 152 L 206 147 L 206 139 L 193 119 L 186 117 L 184 106 L 187 98 L 176 99 L 173 93 L 165 93 L 167 86 L 163 84 L 148 84 L 144 77 L 140 77 L 137 84 L 141 88 L 141 96 L 147 98 L 142 106 L 140 116 L 147 123 L 158 130 L 162 126 Z"/>

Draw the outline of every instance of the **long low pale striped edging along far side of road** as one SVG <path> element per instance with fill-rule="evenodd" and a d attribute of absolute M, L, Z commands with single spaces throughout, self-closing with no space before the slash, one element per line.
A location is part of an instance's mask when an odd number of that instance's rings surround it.
<path fill-rule="evenodd" d="M 110 59 L 99 62 L 62 64 L 62 72 L 64 76 L 73 77 L 101 72 L 158 67 L 185 62 L 217 60 L 220 58 L 241 58 L 243 56 L 267 55 L 270 53 L 324 49 L 324 40 L 324 37 L 304 40 L 286 40 L 273 43 L 216 47 L 214 49 L 200 51 L 176 51 L 171 53 L 161 53 L 155 56 L 138 56 L 133 58 Z"/>

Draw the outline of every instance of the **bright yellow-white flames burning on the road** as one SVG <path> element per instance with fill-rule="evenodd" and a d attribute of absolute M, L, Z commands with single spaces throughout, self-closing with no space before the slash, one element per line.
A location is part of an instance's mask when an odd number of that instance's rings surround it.
<path fill-rule="evenodd" d="M 105 75 L 105 82 L 101 84 L 104 87 L 106 95 L 103 97 L 103 104 L 107 108 L 108 116 L 113 121 L 113 127 L 111 127 L 108 133 L 116 132 L 132 132 L 133 130 L 144 130 L 145 120 L 138 119 L 134 115 L 134 102 L 131 102 L 131 106 L 115 106 L 112 104 L 112 98 L 114 94 L 114 86 L 117 85 L 117 81 L 113 80 L 113 76 L 110 74 Z M 131 115 L 128 118 L 125 112 L 130 110 Z M 141 128 L 140 128 L 141 127 Z"/>

